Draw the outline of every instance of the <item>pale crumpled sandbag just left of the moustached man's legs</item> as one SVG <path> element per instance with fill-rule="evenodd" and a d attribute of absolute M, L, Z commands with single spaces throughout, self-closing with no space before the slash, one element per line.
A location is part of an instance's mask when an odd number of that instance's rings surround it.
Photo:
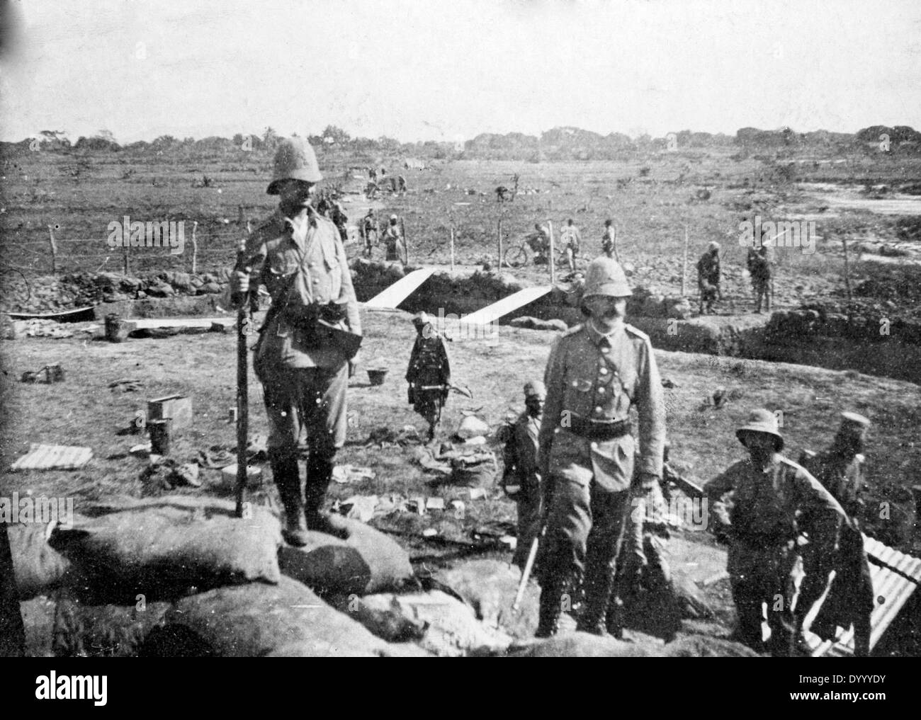
<path fill-rule="evenodd" d="M 519 611 L 512 612 L 521 581 L 518 565 L 501 560 L 472 560 L 439 570 L 433 577 L 460 595 L 487 627 L 500 629 L 514 638 L 534 636 L 541 591 L 534 582 L 529 582 Z"/>

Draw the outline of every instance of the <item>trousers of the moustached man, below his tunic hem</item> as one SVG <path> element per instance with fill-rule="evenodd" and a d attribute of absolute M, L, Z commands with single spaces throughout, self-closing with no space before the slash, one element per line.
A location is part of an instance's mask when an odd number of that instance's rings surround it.
<path fill-rule="evenodd" d="M 589 557 L 614 563 L 629 512 L 629 491 L 604 490 L 597 482 L 554 477 L 547 525 L 547 570 L 580 576 Z"/>

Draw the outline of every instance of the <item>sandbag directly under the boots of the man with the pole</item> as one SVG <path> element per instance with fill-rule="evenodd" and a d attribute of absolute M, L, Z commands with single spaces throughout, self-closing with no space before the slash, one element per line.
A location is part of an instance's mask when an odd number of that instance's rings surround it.
<path fill-rule="evenodd" d="M 409 555 L 394 540 L 348 517 L 331 515 L 329 524 L 340 537 L 311 531 L 305 547 L 278 552 L 284 575 L 321 594 L 368 595 L 412 584 Z"/>

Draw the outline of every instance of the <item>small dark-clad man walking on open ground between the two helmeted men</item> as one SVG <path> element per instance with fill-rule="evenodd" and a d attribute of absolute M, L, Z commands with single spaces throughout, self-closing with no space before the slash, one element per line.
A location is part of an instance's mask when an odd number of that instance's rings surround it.
<path fill-rule="evenodd" d="M 441 421 L 441 409 L 448 400 L 451 384 L 451 366 L 448 348 L 436 331 L 433 318 L 420 312 L 413 319 L 416 337 L 409 356 L 406 381 L 409 383 L 408 399 L 428 422 L 428 439 L 435 439 L 435 428 Z"/>

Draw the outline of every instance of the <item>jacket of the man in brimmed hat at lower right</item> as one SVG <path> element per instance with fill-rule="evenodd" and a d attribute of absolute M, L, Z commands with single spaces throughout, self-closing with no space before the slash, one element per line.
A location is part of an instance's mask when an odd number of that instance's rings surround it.
<path fill-rule="evenodd" d="M 704 490 L 714 525 L 737 540 L 767 547 L 795 540 L 803 530 L 817 551 L 834 552 L 845 511 L 821 482 L 782 455 L 764 470 L 740 460 Z"/>

